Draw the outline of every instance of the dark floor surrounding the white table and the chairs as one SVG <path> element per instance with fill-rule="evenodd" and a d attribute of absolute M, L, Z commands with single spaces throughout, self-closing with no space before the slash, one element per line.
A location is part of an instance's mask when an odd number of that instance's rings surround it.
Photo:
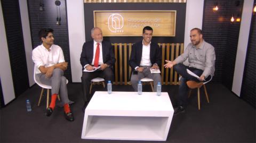
<path fill-rule="evenodd" d="M 93 89 L 102 87 L 97 85 Z M 113 90 L 132 91 L 132 87 L 113 86 Z M 150 87 L 143 86 L 143 90 L 150 91 Z M 46 117 L 46 98 L 37 106 L 40 91 L 35 85 L 0 110 L 0 142 L 164 142 L 81 139 L 84 115 L 81 85 L 68 84 L 69 98 L 75 102 L 71 105 L 74 122 L 64 118 L 61 107 Z M 163 86 L 162 91 L 169 92 L 175 105 L 178 86 Z M 202 90 L 200 111 L 196 90 L 192 92 L 186 112 L 173 116 L 165 142 L 255 142 L 255 109 L 221 84 L 209 83 L 207 91 L 210 103 L 206 103 Z M 31 112 L 26 111 L 26 99 L 32 104 Z"/>

